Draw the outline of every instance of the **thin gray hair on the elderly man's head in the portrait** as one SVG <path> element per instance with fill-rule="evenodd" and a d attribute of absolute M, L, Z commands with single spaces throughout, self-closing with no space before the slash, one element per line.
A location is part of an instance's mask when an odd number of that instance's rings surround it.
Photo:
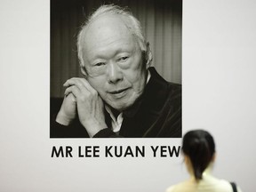
<path fill-rule="evenodd" d="M 132 32 L 132 35 L 134 35 L 138 43 L 140 45 L 140 50 L 142 52 L 147 51 L 147 42 L 145 40 L 145 36 L 143 34 L 140 21 L 137 20 L 133 15 L 132 12 L 129 12 L 126 8 L 122 8 L 118 5 L 114 4 L 105 4 L 101 5 L 95 12 L 92 13 L 92 15 L 84 22 L 84 25 L 79 31 L 79 34 L 77 36 L 77 49 L 78 49 L 78 59 L 80 66 L 84 68 L 84 55 L 83 55 L 83 38 L 84 38 L 84 32 L 86 28 L 88 28 L 89 24 L 92 22 L 92 20 L 97 19 L 98 17 L 104 15 L 104 14 L 116 14 L 120 16 L 124 16 L 125 19 L 127 19 L 128 22 L 125 22 L 126 27 Z"/>

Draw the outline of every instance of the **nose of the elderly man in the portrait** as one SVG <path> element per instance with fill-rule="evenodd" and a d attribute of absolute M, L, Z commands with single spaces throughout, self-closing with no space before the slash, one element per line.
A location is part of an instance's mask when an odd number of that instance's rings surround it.
<path fill-rule="evenodd" d="M 108 83 L 116 84 L 117 82 L 123 80 L 124 76 L 117 63 L 110 62 L 108 64 Z"/>

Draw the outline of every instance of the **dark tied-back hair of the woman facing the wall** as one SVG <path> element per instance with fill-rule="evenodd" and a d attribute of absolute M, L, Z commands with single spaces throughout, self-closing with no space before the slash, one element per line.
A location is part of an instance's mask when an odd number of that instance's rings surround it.
<path fill-rule="evenodd" d="M 212 135 L 204 130 L 187 132 L 182 140 L 182 151 L 191 161 L 196 180 L 201 180 L 215 152 Z"/>

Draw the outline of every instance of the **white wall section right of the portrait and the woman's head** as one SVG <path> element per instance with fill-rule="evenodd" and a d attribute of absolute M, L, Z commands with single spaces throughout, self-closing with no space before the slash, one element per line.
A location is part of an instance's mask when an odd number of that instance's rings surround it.
<path fill-rule="evenodd" d="M 254 191 L 255 1 L 185 1 L 183 123 L 215 137 L 215 175 Z"/>

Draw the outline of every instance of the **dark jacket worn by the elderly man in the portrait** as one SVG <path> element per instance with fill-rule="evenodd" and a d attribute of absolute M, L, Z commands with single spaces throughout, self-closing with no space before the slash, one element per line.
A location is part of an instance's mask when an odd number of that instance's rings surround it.
<path fill-rule="evenodd" d="M 181 85 L 166 82 L 157 74 L 155 68 L 149 68 L 149 71 L 151 78 L 140 99 L 124 111 L 124 121 L 119 134 L 116 135 L 110 128 L 106 128 L 98 132 L 95 138 L 181 137 Z M 105 118 L 106 124 L 111 124 L 107 112 Z M 64 126 L 56 123 L 55 117 L 52 116 L 50 136 L 51 138 L 86 138 L 88 134 L 78 117 L 73 124 Z"/>

